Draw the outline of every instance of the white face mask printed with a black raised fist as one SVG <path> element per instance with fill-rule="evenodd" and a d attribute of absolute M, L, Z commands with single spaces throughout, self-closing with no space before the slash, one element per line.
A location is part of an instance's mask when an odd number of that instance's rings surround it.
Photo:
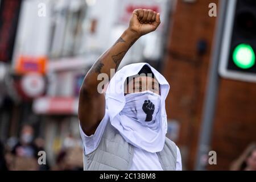
<path fill-rule="evenodd" d="M 130 93 L 125 96 L 126 104 L 121 114 L 147 125 L 148 122 L 154 122 L 156 114 L 159 111 L 160 96 L 151 91 L 139 93 Z"/>

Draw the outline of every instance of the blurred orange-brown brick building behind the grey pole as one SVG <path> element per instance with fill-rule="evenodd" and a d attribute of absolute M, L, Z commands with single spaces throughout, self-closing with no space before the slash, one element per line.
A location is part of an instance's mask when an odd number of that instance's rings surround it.
<path fill-rule="evenodd" d="M 177 1 L 170 19 L 164 76 L 171 84 L 167 115 L 180 123 L 178 146 L 184 167 L 194 169 L 199 142 L 201 115 L 208 79 L 217 18 L 209 17 L 209 3 Z M 203 55 L 197 45 L 203 41 Z M 248 144 L 256 140 L 256 84 L 220 78 L 211 150 L 217 152 L 217 165 L 208 169 L 229 169 Z"/>

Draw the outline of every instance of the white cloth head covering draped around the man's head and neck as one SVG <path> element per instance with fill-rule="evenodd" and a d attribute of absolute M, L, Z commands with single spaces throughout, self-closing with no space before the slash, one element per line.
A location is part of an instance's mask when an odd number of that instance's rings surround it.
<path fill-rule="evenodd" d="M 127 77 L 137 75 L 144 65 L 148 65 L 154 73 L 156 80 L 160 84 L 160 108 L 158 112 L 158 130 L 153 133 L 148 132 L 144 126 L 120 117 L 120 112 L 125 106 L 124 85 Z M 126 140 L 135 147 L 148 152 L 159 152 L 163 150 L 167 133 L 167 115 L 165 100 L 169 92 L 170 85 L 166 79 L 156 69 L 147 63 L 129 64 L 120 69 L 110 80 L 106 90 L 106 108 L 108 109 L 110 123 L 115 127 Z M 151 134 L 151 135 L 150 135 Z"/>

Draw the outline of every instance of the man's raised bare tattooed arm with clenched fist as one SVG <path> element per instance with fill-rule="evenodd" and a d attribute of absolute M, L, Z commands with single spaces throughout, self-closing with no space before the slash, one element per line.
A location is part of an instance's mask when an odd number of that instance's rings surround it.
<path fill-rule="evenodd" d="M 160 24 L 160 15 L 152 10 L 137 9 L 133 11 L 127 30 L 98 60 L 86 74 L 79 94 L 79 121 L 86 135 L 95 133 L 97 126 L 105 115 L 105 96 L 97 90 L 100 73 L 110 78 L 110 69 L 117 71 L 126 52 L 142 36 L 156 30 Z"/>

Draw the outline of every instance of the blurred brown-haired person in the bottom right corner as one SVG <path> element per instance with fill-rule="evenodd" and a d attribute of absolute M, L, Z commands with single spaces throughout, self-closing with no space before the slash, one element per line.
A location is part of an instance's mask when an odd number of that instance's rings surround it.
<path fill-rule="evenodd" d="M 232 163 L 232 171 L 256 171 L 256 144 L 250 144 L 242 155 Z"/>

